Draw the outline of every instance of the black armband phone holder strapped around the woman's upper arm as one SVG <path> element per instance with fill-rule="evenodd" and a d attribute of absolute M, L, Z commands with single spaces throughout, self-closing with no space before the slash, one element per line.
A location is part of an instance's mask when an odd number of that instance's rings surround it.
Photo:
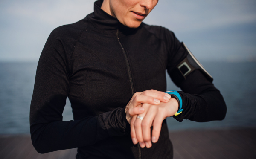
<path fill-rule="evenodd" d="M 181 61 L 171 72 L 170 76 L 172 81 L 177 85 L 186 80 L 186 77 L 195 69 L 199 69 L 209 80 L 213 81 L 212 76 L 204 69 L 203 65 L 195 58 L 195 56 L 189 51 L 187 46 L 182 42 L 182 47 L 186 50 L 187 56 Z"/>

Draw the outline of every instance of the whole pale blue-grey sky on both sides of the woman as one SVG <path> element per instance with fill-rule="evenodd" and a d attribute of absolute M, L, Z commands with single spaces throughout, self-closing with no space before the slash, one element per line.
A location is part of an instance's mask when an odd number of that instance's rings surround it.
<path fill-rule="evenodd" d="M 0 61 L 37 62 L 53 29 L 94 0 L 0 0 Z M 143 21 L 164 26 L 199 61 L 256 61 L 256 0 L 159 0 Z"/>

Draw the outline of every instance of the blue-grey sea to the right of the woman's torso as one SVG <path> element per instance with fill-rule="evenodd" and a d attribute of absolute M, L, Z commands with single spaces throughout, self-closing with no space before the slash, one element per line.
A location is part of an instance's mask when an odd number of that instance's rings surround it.
<path fill-rule="evenodd" d="M 167 119 L 169 130 L 222 127 L 256 127 L 256 63 L 202 62 L 213 84 L 224 97 L 227 115 L 223 121 L 199 123 Z M 169 77 L 169 76 L 167 76 Z M 167 79 L 167 90 L 178 88 Z"/>

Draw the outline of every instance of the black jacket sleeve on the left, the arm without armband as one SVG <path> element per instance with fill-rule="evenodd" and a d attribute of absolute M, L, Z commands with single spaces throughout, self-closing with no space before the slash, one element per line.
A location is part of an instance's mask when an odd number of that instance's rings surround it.
<path fill-rule="evenodd" d="M 63 41 L 52 32 L 41 53 L 30 106 L 32 144 L 39 153 L 86 145 L 123 136 L 128 121 L 125 108 L 76 121 L 62 121 L 70 77 Z"/>

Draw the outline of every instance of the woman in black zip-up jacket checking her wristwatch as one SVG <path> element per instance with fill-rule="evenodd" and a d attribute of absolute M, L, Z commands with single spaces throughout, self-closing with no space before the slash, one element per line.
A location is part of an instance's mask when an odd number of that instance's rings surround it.
<path fill-rule="evenodd" d="M 39 153 L 78 147 L 77 159 L 172 159 L 165 118 L 179 102 L 177 121 L 224 119 L 224 99 L 204 71 L 178 74 L 186 46 L 168 29 L 142 23 L 157 2 L 96 1 L 93 13 L 49 35 L 30 108 Z M 181 101 L 164 93 L 166 69 L 184 91 Z M 62 121 L 67 97 L 74 121 Z"/>

